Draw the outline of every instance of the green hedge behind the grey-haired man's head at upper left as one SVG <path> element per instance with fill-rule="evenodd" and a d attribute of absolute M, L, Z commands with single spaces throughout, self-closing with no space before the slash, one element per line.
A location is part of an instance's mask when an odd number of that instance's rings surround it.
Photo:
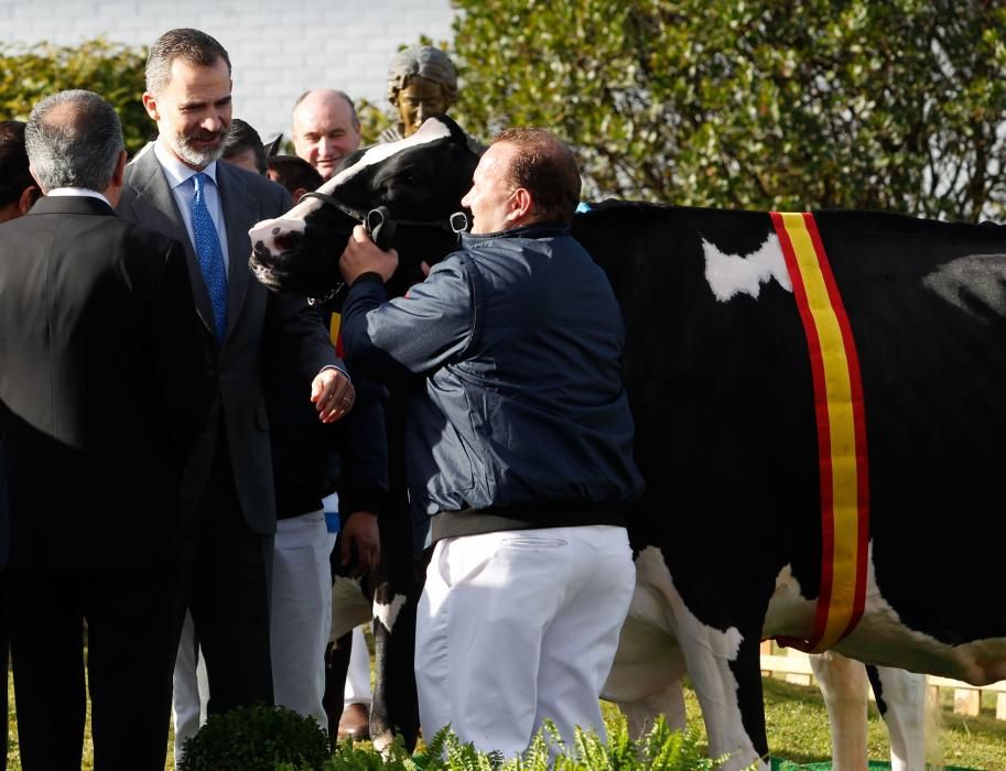
<path fill-rule="evenodd" d="M 145 65 L 145 48 L 101 39 L 73 47 L 0 43 L 0 120 L 26 120 L 40 99 L 69 88 L 86 88 L 116 108 L 126 150 L 132 155 L 156 133 L 140 101 Z"/>

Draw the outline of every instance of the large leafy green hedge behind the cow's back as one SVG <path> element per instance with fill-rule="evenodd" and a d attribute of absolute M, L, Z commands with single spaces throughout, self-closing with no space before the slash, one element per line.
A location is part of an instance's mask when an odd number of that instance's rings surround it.
<path fill-rule="evenodd" d="M 586 199 L 1004 214 L 1000 2 L 454 4 L 459 122 L 553 129 Z"/>

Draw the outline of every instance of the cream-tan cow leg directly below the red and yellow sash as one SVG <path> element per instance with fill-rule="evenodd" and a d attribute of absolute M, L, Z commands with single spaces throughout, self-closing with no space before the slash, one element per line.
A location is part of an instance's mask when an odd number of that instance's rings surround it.
<path fill-rule="evenodd" d="M 834 651 L 810 656 L 810 665 L 827 707 L 832 767 L 837 771 L 865 771 L 866 667 Z"/>

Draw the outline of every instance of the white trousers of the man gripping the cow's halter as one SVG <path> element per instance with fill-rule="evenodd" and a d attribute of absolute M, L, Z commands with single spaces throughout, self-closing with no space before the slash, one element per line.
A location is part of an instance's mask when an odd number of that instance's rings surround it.
<path fill-rule="evenodd" d="M 505 758 L 551 719 L 605 737 L 597 703 L 636 569 L 624 528 L 516 530 L 440 541 L 419 604 L 423 736 L 451 724 Z"/>

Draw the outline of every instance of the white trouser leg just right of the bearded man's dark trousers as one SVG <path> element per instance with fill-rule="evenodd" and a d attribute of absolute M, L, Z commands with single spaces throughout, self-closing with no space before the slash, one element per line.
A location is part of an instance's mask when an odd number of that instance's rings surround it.
<path fill-rule="evenodd" d="M 279 520 L 272 564 L 272 685 L 275 703 L 327 730 L 325 644 L 332 619 L 333 539 L 316 511 Z"/>

